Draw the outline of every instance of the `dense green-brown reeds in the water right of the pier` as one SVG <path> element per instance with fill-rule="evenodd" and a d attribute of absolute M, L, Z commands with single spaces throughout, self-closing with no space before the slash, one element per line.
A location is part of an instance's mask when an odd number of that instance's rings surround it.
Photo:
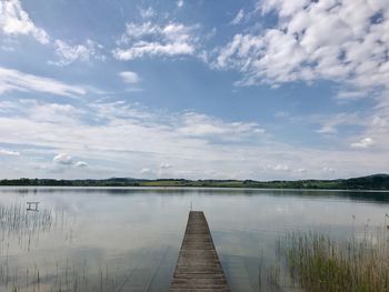
<path fill-rule="evenodd" d="M 313 232 L 289 233 L 281 243 L 290 276 L 303 291 L 389 291 L 386 229 L 343 241 Z"/>

